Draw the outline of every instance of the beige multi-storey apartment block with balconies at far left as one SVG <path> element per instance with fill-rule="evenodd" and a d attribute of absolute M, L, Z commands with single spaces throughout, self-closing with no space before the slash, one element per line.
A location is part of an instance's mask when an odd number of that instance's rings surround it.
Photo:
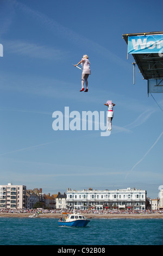
<path fill-rule="evenodd" d="M 26 186 L 12 185 L 12 183 L 0 185 L 0 208 L 26 208 Z"/>

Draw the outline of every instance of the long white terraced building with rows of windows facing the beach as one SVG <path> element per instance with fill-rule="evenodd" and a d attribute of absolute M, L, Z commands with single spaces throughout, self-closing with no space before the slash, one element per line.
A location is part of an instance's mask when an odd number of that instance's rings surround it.
<path fill-rule="evenodd" d="M 146 209 L 146 190 L 71 190 L 67 189 L 67 209 Z"/>

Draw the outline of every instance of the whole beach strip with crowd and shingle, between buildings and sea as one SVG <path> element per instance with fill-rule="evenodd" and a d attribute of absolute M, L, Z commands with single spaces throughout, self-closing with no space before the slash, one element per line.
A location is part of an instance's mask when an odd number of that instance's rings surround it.
<path fill-rule="evenodd" d="M 65 211 L 63 211 L 65 212 Z M 104 211 L 79 211 L 86 218 L 163 218 L 162 210 L 146 210 L 146 211 L 119 211 L 119 210 L 104 210 Z M 72 211 L 67 211 L 67 213 L 72 213 Z M 60 218 L 62 211 L 59 210 L 28 210 L 28 209 L 18 209 L 18 210 L 0 210 L 0 217 L 18 217 L 18 218 L 28 218 L 33 214 L 39 214 L 37 218 Z"/>

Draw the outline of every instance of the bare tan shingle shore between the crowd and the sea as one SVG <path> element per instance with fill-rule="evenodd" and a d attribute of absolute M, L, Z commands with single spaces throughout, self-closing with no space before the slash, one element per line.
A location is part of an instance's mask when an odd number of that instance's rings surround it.
<path fill-rule="evenodd" d="M 28 218 L 32 214 L 0 214 L 4 218 Z M 163 214 L 82 214 L 85 218 L 163 218 Z M 40 214 L 37 218 L 60 218 L 61 214 Z"/>

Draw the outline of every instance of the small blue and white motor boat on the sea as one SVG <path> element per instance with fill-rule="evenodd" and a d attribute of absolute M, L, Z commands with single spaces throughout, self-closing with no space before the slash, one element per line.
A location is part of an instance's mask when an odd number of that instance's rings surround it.
<path fill-rule="evenodd" d="M 63 219 L 62 217 L 58 221 L 59 226 L 69 226 L 69 227 L 85 227 L 90 221 L 87 220 L 83 215 L 76 214 L 66 214 L 66 217 Z M 62 214 L 62 216 L 63 216 Z"/>

